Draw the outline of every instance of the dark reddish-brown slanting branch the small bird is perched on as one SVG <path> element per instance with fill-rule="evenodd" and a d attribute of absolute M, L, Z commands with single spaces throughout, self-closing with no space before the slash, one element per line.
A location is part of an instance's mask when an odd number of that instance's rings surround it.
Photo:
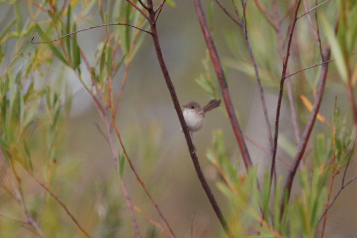
<path fill-rule="evenodd" d="M 175 92 L 174 85 L 172 84 L 172 81 L 171 81 L 171 78 L 170 78 L 170 75 L 169 75 L 169 71 L 167 70 L 164 58 L 162 56 L 159 37 L 158 37 L 158 34 L 157 34 L 157 29 L 156 29 L 156 24 L 155 24 L 155 11 L 153 9 L 153 4 L 152 4 L 151 0 L 148 0 L 147 2 L 148 2 L 148 6 L 149 6 L 149 23 L 150 23 L 151 31 L 153 33 L 152 34 L 152 40 L 154 41 L 154 46 L 155 46 L 157 59 L 159 60 L 159 64 L 160 64 L 160 68 L 161 68 L 162 74 L 164 76 L 166 85 L 169 88 L 169 92 L 170 92 L 170 95 L 171 95 L 172 102 L 174 103 L 174 107 L 175 107 L 178 119 L 179 119 L 179 121 L 181 123 L 181 127 L 182 127 L 183 133 L 184 133 L 185 138 L 186 138 L 188 150 L 190 152 L 190 156 L 191 156 L 193 165 L 195 167 L 198 179 L 200 179 L 201 185 L 202 185 L 202 187 L 203 187 L 203 189 L 204 189 L 204 191 L 205 191 L 205 193 L 206 193 L 206 195 L 208 197 L 208 200 L 210 201 L 211 206 L 212 206 L 213 210 L 215 211 L 217 218 L 221 222 L 222 227 L 225 230 L 226 234 L 229 237 L 234 237 L 232 232 L 231 232 L 231 230 L 230 230 L 230 228 L 228 227 L 228 224 L 227 224 L 226 220 L 223 217 L 221 209 L 220 209 L 220 207 L 218 206 L 218 204 L 216 202 L 216 199 L 215 199 L 215 197 L 214 197 L 214 195 L 213 195 L 213 193 L 211 191 L 211 188 L 208 185 L 208 183 L 206 181 L 206 178 L 202 173 L 202 169 L 201 169 L 200 163 L 198 162 L 198 158 L 197 158 L 197 155 L 196 155 L 196 152 L 195 152 L 195 146 L 192 143 L 191 136 L 190 136 L 190 133 L 188 131 L 188 127 L 186 125 L 185 119 L 183 118 L 183 114 L 182 114 L 180 103 L 178 102 L 178 99 L 177 99 L 177 95 L 176 95 L 176 92 Z"/>

